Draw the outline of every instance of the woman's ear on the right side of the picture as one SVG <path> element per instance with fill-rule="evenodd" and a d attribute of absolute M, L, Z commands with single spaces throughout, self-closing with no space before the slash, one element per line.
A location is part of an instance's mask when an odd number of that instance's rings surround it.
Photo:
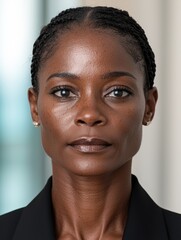
<path fill-rule="evenodd" d="M 147 126 L 155 115 L 155 107 L 158 100 L 158 91 L 156 87 L 148 90 L 146 93 L 145 113 L 143 117 L 143 125 Z"/>

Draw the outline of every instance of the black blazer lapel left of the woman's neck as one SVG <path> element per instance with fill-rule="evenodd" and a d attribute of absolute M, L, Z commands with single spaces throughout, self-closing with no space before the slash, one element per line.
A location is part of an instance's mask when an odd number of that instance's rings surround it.
<path fill-rule="evenodd" d="M 55 240 L 51 202 L 51 179 L 42 192 L 24 208 L 13 240 Z"/>

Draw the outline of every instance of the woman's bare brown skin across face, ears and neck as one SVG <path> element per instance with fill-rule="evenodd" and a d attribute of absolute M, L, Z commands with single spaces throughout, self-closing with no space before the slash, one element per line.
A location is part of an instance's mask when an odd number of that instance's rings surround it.
<path fill-rule="evenodd" d="M 55 90 L 65 85 L 67 90 Z M 141 63 L 126 52 L 120 36 L 86 27 L 61 36 L 39 71 L 39 86 L 38 95 L 32 88 L 28 95 L 52 159 L 57 239 L 121 239 L 131 161 L 142 125 L 154 116 L 156 88 L 145 97 Z M 92 143 L 69 145 L 82 138 Z"/>

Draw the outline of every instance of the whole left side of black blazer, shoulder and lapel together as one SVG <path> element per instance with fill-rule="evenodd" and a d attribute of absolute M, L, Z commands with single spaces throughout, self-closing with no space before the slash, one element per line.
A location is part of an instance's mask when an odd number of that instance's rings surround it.
<path fill-rule="evenodd" d="M 0 216 L 0 240 L 53 240 L 54 235 L 51 178 L 27 206 Z"/>

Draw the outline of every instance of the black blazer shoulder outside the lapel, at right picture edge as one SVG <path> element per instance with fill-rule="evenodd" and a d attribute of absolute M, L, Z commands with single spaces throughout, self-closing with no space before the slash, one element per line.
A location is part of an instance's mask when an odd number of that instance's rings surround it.
<path fill-rule="evenodd" d="M 171 239 L 181 239 L 181 214 L 162 209 L 168 234 Z"/>

